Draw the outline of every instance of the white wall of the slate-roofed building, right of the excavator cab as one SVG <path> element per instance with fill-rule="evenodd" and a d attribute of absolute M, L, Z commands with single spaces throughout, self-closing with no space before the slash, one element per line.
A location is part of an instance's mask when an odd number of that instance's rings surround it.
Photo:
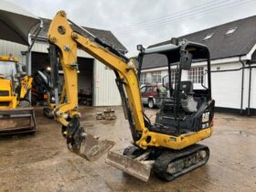
<path fill-rule="evenodd" d="M 215 65 L 212 69 L 239 69 L 240 62 Z M 240 109 L 242 70 L 212 73 L 212 93 L 216 106 Z M 251 69 L 251 108 L 256 109 L 256 70 Z M 244 69 L 244 90 L 242 109 L 248 108 L 249 69 Z"/>

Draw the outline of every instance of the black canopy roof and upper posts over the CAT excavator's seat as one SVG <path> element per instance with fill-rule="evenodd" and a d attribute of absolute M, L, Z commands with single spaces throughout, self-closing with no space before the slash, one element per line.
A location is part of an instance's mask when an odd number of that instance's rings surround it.
<path fill-rule="evenodd" d="M 210 78 L 210 57 L 209 50 L 205 45 L 195 42 L 189 42 L 184 40 L 178 45 L 168 44 L 156 48 L 142 49 L 138 56 L 138 78 L 140 79 L 141 71 L 144 69 L 154 68 L 155 66 L 168 67 L 168 75 L 164 77 L 162 82 L 169 86 L 169 90 L 173 90 L 171 86 L 175 85 L 175 82 L 171 82 L 172 79 L 182 80 L 182 70 L 189 70 L 194 67 L 196 63 L 206 62 L 207 68 L 205 69 L 204 77 L 208 77 L 207 85 L 202 85 L 202 88 L 207 90 L 208 97 L 211 97 L 211 78 Z M 145 66 L 146 65 L 146 66 Z M 178 74 L 172 74 L 172 71 L 177 71 Z M 178 72 L 180 70 L 180 72 Z M 184 72 L 184 71 L 183 71 Z M 176 76 L 176 78 L 172 78 Z M 168 78 L 168 80 L 165 80 Z M 202 80 L 198 80 L 202 81 Z M 160 83 L 160 82 L 158 82 Z M 164 86 L 166 86 L 164 84 Z"/>

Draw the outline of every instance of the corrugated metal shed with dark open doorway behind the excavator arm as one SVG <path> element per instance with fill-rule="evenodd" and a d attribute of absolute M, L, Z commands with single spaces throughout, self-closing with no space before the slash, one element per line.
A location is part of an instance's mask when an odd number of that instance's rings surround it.
<path fill-rule="evenodd" d="M 42 18 L 42 20 L 44 27 L 40 31 L 37 41 L 32 48 L 32 74 L 38 69 L 46 69 L 49 66 L 47 32 L 50 20 L 45 18 Z M 80 34 L 88 36 L 80 28 L 73 28 Z M 89 27 L 84 28 L 123 54 L 127 52 L 127 49 L 113 36 L 111 31 Z M 22 55 L 22 51 L 26 50 L 26 46 L 1 40 L 0 55 L 9 55 L 11 53 L 21 63 L 26 64 L 26 56 Z M 80 69 L 79 89 L 80 91 L 86 91 L 91 94 L 93 106 L 121 105 L 120 94 L 115 84 L 115 75 L 111 69 L 108 69 L 99 60 L 92 58 L 80 49 L 78 50 L 78 63 Z"/>

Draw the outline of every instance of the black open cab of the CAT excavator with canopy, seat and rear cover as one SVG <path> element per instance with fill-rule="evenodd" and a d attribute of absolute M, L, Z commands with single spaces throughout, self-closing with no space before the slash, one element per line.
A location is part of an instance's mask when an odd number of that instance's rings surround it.
<path fill-rule="evenodd" d="M 168 72 L 162 83 L 169 92 L 165 97 L 159 95 L 156 98 L 161 100 L 161 104 L 157 104 L 161 110 L 156 114 L 156 125 L 152 127 L 157 131 L 171 130 L 171 134 L 177 135 L 197 132 L 208 127 L 209 122 L 203 125 L 202 121 L 199 121 L 206 112 L 208 112 L 208 120 L 212 119 L 213 115 L 211 111 L 214 101 L 211 99 L 208 48 L 183 40 L 176 45 L 169 44 L 141 50 L 138 57 L 139 79 L 144 65 L 146 69 L 155 66 L 167 67 Z M 206 62 L 207 67 L 194 68 L 199 62 Z M 155 83 L 155 77 L 153 79 Z"/>

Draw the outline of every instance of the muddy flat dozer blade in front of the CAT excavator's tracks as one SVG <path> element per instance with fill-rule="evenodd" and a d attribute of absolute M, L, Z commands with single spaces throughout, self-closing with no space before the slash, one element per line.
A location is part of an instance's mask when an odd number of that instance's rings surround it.
<path fill-rule="evenodd" d="M 112 151 L 109 151 L 106 163 L 144 182 L 148 181 L 153 166 L 153 164 L 147 164 L 146 161 L 138 161 Z"/>

